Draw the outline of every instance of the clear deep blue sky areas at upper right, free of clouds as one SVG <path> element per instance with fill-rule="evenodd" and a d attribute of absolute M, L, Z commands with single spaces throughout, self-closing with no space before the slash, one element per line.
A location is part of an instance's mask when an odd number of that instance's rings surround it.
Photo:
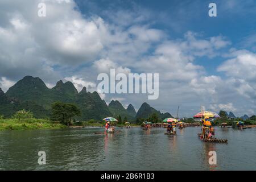
<path fill-rule="evenodd" d="M 209 3 L 217 5 L 217 17 L 209 17 Z M 144 11 L 148 19 L 146 23 L 167 33 L 170 39 L 183 38 L 188 30 L 200 32 L 202 36 L 225 36 L 237 49 L 249 49 L 246 45 L 248 37 L 255 35 L 256 11 L 254 1 L 81 1 L 76 0 L 79 10 L 85 16 L 100 15 L 113 22 L 105 11 Z M 254 6 L 253 6 L 254 5 Z M 228 52 L 230 47 L 222 50 Z M 202 57 L 195 63 L 203 65 L 208 74 L 220 75 L 216 72 L 218 65 L 225 59 L 222 57 Z"/>

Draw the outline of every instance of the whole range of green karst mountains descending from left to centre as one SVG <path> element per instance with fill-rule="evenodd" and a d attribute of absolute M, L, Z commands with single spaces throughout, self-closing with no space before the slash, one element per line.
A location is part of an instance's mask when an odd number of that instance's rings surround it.
<path fill-rule="evenodd" d="M 127 109 L 119 101 L 111 101 L 107 105 L 97 92 L 87 92 L 85 87 L 78 92 L 70 81 L 64 83 L 60 80 L 49 89 L 40 78 L 25 76 L 6 93 L 0 88 L 0 114 L 6 118 L 21 109 L 30 110 L 36 118 L 49 118 L 51 104 L 56 101 L 76 104 L 81 110 L 81 116 L 77 119 L 82 121 L 121 115 L 133 122 L 136 118 L 148 118 L 153 113 L 158 114 L 161 119 L 172 117 L 170 113 L 161 113 L 146 102 L 139 108 L 138 113 L 131 104 Z"/>

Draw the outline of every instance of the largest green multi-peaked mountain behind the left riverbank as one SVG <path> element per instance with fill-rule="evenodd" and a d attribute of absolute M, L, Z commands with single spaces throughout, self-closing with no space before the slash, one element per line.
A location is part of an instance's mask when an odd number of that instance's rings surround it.
<path fill-rule="evenodd" d="M 38 118 L 50 117 L 51 104 L 56 101 L 77 104 L 82 113 L 78 119 L 102 119 L 112 116 L 106 102 L 101 100 L 97 92 L 86 92 L 84 88 L 78 93 L 69 81 L 64 83 L 60 80 L 56 86 L 49 89 L 40 78 L 26 76 L 11 86 L 4 95 L 9 100 L 10 98 L 17 100 L 14 109 L 2 111 L 6 117 L 18 109 L 30 110 Z M 1 100 L 6 102 L 6 98 Z"/>

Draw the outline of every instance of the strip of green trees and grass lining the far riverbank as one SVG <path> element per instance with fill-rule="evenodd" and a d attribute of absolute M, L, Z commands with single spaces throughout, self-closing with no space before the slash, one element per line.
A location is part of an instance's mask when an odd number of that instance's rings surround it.
<path fill-rule="evenodd" d="M 213 126 L 220 126 L 225 122 L 227 125 L 232 125 L 233 121 L 242 121 L 241 118 L 228 118 L 225 111 L 220 111 L 220 118 L 213 121 Z M 19 110 L 11 118 L 4 118 L 0 115 L 0 131 L 1 130 L 32 130 L 32 129 L 65 129 L 68 127 L 102 127 L 104 121 L 90 119 L 88 121 L 78 121 L 77 117 L 81 115 L 81 110 L 75 104 L 64 102 L 54 102 L 51 105 L 51 117 L 48 119 L 34 118 L 31 111 Z M 117 116 L 118 123 L 116 126 L 123 127 L 127 122 L 127 117 Z M 130 126 L 141 126 L 144 121 L 152 123 L 162 122 L 157 113 L 152 113 L 148 118 L 137 118 L 134 122 L 130 122 Z M 193 118 L 184 118 L 183 122 L 193 123 Z M 256 115 L 246 119 L 246 125 L 256 125 Z"/>

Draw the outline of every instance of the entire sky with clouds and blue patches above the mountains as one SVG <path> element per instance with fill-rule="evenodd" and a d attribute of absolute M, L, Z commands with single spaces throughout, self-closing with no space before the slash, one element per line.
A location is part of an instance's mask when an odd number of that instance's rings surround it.
<path fill-rule="evenodd" d="M 38 16 L 38 4 L 46 16 Z M 209 3 L 217 16 L 210 17 Z M 256 113 L 256 1 L 0 0 L 0 88 L 24 76 L 97 90 L 97 76 L 159 73 L 159 98 L 100 94 L 192 117 Z"/>

